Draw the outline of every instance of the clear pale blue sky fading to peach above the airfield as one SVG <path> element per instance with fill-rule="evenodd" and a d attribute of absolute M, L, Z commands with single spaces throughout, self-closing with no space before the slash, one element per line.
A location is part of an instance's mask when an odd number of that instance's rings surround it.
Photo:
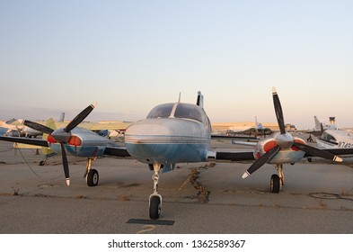
<path fill-rule="evenodd" d="M 353 127 L 353 1 L 0 0 L 0 120 L 135 121 L 205 96 L 211 121 Z"/>

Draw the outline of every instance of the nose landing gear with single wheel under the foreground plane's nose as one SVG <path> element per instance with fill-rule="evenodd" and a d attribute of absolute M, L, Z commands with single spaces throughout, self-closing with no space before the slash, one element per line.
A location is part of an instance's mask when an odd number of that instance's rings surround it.
<path fill-rule="evenodd" d="M 162 165 L 154 163 L 153 166 L 154 175 L 152 175 L 152 180 L 154 181 L 154 193 L 149 196 L 149 218 L 157 220 L 161 216 L 162 210 L 162 196 L 158 193 L 159 171 Z"/>

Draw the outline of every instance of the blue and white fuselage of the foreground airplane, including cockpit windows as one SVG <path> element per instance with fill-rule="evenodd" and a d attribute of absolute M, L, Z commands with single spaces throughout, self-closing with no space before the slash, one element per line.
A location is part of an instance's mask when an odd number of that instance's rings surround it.
<path fill-rule="evenodd" d="M 210 141 L 206 113 L 187 103 L 159 105 L 146 120 L 132 123 L 125 133 L 128 153 L 147 164 L 205 161 Z"/>

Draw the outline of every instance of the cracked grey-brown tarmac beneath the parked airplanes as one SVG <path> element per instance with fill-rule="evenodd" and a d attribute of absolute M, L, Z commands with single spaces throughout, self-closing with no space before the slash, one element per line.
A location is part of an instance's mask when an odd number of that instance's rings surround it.
<path fill-rule="evenodd" d="M 215 148 L 237 148 L 217 140 Z M 96 187 L 84 179 L 85 158 L 69 157 L 65 185 L 61 157 L 39 166 L 33 149 L 0 142 L 2 234 L 351 234 L 353 169 L 304 160 L 285 166 L 285 186 L 269 192 L 274 166 L 242 179 L 251 163 L 178 164 L 161 174 L 160 220 L 150 221 L 151 172 L 133 159 L 93 163 Z M 190 179 L 191 178 L 191 179 Z"/>

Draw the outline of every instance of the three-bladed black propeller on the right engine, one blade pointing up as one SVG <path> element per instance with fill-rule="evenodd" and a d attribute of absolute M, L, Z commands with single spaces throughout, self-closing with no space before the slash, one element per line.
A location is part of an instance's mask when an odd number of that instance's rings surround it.
<path fill-rule="evenodd" d="M 273 148 L 270 148 L 268 152 L 266 152 L 264 155 L 262 155 L 261 157 L 256 159 L 255 162 L 252 163 L 252 166 L 250 166 L 249 169 L 243 174 L 243 178 L 252 175 L 252 173 L 258 170 L 261 166 L 268 163 L 281 149 L 297 148 L 314 157 L 322 157 L 336 162 L 343 161 L 342 158 L 335 156 L 321 148 L 314 148 L 312 146 L 295 141 L 293 136 L 286 132 L 282 106 L 280 104 L 277 90 L 275 87 L 272 88 L 272 97 L 279 126 L 279 133 L 273 137 L 275 145 Z"/>

